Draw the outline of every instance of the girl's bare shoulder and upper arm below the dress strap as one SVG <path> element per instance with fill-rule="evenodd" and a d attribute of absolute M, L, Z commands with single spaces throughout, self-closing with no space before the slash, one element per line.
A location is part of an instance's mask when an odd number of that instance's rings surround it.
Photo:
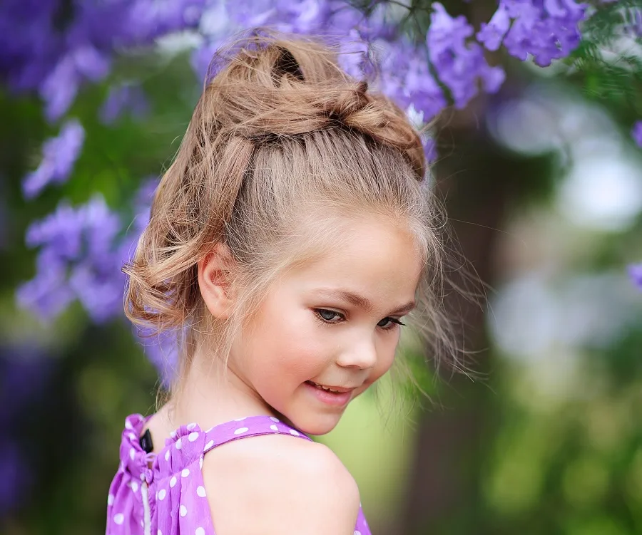
<path fill-rule="evenodd" d="M 315 442 L 286 435 L 229 442 L 205 455 L 203 479 L 217 535 L 352 535 L 355 529 L 355 479 Z"/>

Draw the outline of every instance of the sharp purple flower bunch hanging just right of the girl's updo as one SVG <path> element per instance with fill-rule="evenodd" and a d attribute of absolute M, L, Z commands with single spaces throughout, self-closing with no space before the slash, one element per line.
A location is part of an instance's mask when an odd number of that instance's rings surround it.
<path fill-rule="evenodd" d="M 504 82 L 501 67 L 490 67 L 477 43 L 469 41 L 473 28 L 464 16 L 452 18 L 442 4 L 432 4 L 433 13 L 426 35 L 428 56 L 439 80 L 449 88 L 454 105 L 464 108 L 477 95 L 481 79 L 489 93 Z"/>

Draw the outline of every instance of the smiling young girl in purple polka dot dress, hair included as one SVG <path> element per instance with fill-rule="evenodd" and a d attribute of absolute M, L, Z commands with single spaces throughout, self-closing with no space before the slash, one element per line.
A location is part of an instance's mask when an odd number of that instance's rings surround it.
<path fill-rule="evenodd" d="M 421 139 L 329 48 L 246 38 L 205 87 L 126 266 L 126 313 L 183 333 L 168 402 L 126 419 L 108 534 L 367 535 L 307 435 L 443 336 Z"/>

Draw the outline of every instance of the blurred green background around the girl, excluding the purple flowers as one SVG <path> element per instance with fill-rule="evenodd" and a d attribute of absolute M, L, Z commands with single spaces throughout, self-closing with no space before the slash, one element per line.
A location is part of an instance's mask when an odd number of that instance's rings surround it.
<path fill-rule="evenodd" d="M 384 383 L 321 440 L 355 475 L 374 534 L 642 534 L 636 117 L 600 92 L 608 70 L 506 69 L 498 95 L 434 130 L 435 187 L 489 285 L 482 308 L 459 303 L 480 377 L 419 372 L 432 401 Z M 21 179 L 54 130 L 39 100 L 0 89 L 1 534 L 101 533 L 124 417 L 154 410 L 156 370 L 124 321 L 96 326 L 71 306 L 41 323 L 15 299 L 34 275 L 29 222 L 62 195 L 124 206 L 178 148 L 199 89 L 187 54 L 161 43 L 119 58 L 113 76 L 132 73 L 151 113 L 103 124 L 107 85 L 84 88 L 73 180 L 36 202 Z"/>

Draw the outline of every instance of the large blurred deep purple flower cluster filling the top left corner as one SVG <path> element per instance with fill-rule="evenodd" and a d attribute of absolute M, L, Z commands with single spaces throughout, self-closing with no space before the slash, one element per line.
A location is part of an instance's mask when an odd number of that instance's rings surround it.
<path fill-rule="evenodd" d="M 103 80 L 121 48 L 198 26 L 206 0 L 6 0 L 0 9 L 0 75 L 40 93 L 61 118 L 86 82 Z"/>

